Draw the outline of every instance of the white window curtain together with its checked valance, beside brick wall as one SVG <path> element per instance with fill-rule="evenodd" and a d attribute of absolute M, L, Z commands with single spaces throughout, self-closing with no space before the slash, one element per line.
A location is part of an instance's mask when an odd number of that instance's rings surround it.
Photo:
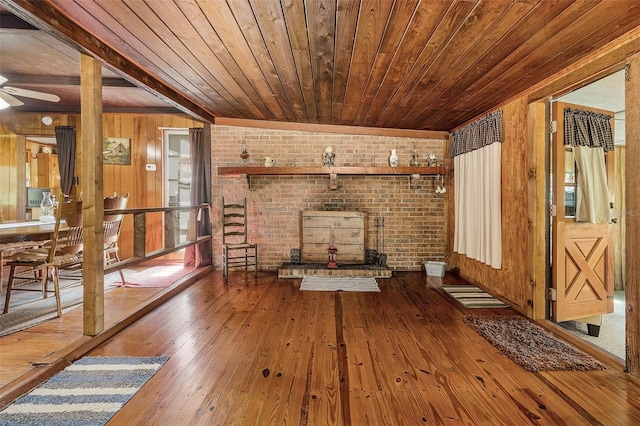
<path fill-rule="evenodd" d="M 453 250 L 502 268 L 502 111 L 453 134 L 455 230 Z"/>

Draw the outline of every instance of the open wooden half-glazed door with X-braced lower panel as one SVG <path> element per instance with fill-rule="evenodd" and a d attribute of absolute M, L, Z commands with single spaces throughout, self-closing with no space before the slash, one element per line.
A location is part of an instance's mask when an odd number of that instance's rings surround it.
<path fill-rule="evenodd" d="M 552 317 L 555 321 L 568 321 L 613 312 L 613 238 L 612 224 L 576 222 L 570 203 L 573 167 L 572 151 L 564 145 L 565 108 L 614 113 L 580 105 L 555 102 L 552 120 L 553 208 L 552 212 Z M 613 151 L 606 154 L 607 184 L 610 199 L 613 191 Z M 574 179 L 575 182 L 575 179 Z"/>

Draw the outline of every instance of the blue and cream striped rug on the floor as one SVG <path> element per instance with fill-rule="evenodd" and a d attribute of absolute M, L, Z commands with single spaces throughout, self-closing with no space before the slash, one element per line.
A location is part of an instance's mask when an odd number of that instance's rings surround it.
<path fill-rule="evenodd" d="M 85 357 L 0 412 L 0 425 L 104 425 L 168 357 Z"/>

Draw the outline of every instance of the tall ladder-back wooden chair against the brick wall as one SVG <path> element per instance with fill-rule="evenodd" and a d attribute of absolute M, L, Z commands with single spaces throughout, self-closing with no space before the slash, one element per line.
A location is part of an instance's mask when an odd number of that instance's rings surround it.
<path fill-rule="evenodd" d="M 242 204 L 225 204 L 222 198 L 222 263 L 224 281 L 229 282 L 229 269 L 253 266 L 258 277 L 258 244 L 247 241 L 247 199 Z"/>

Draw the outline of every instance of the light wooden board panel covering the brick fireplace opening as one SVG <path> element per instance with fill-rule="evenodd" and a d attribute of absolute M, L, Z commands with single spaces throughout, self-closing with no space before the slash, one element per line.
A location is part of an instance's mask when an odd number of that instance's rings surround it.
<path fill-rule="evenodd" d="M 301 255 L 303 263 L 326 263 L 330 244 L 338 249 L 338 263 L 365 263 L 364 212 L 303 211 Z"/>

